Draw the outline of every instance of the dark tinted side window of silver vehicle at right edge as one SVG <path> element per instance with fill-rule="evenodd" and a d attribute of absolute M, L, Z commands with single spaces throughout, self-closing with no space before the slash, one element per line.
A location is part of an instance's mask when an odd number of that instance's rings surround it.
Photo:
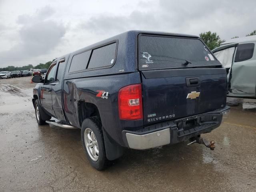
<path fill-rule="evenodd" d="M 235 62 L 241 62 L 252 58 L 254 43 L 239 44 L 236 50 Z"/>

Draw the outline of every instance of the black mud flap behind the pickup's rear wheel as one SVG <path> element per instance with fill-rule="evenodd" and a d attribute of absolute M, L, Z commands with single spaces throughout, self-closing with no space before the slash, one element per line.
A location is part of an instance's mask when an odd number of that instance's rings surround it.
<path fill-rule="evenodd" d="M 121 157 L 124 154 L 124 148 L 116 144 L 116 142 L 108 136 L 104 128 L 102 128 L 102 130 L 107 159 L 111 161 Z"/>

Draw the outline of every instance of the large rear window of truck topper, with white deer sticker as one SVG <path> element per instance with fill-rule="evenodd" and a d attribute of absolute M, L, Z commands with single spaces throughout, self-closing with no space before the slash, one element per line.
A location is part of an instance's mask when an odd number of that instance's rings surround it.
<path fill-rule="evenodd" d="M 202 41 L 195 38 L 141 36 L 139 58 L 141 69 L 220 65 Z"/>

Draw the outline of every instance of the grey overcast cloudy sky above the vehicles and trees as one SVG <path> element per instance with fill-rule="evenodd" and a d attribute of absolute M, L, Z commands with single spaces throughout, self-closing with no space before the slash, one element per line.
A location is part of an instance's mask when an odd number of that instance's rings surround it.
<path fill-rule="evenodd" d="M 222 39 L 256 29 L 256 0 L 0 0 L 0 68 L 45 63 L 127 30 Z"/>

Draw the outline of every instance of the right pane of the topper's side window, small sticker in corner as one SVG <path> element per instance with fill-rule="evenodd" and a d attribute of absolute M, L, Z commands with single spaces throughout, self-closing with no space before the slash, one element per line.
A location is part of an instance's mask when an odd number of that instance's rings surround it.
<path fill-rule="evenodd" d="M 114 64 L 116 57 L 116 43 L 94 49 L 88 69 L 109 66 Z"/>

